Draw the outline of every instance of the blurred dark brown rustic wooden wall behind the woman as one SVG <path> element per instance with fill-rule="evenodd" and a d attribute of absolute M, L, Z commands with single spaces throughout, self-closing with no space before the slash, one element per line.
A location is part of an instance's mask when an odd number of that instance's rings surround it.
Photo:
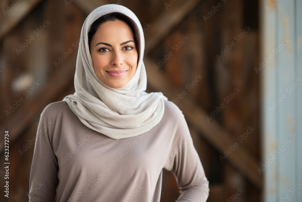
<path fill-rule="evenodd" d="M 22 1 L 26 2 L 26 0 Z M 6 199 L 1 196 L 1 201 L 21 201 L 26 197 L 34 147 L 30 147 L 22 156 L 18 150 L 36 135 L 37 123 L 43 108 L 48 103 L 62 100 L 65 95 L 74 92 L 73 76 L 77 48 L 73 49 L 73 44 L 79 39 L 87 11 L 102 2 L 117 3 L 116 0 L 75 0 L 66 6 L 64 1 L 59 0 L 28 0 L 27 2 L 33 2 L 31 4 L 33 9 L 18 22 L 16 27 L 0 38 L 0 58 L 2 59 L 0 110 L 3 112 L 0 114 L 0 120 L 7 124 L 5 126 L 8 126 L 13 134 L 14 143 L 11 145 L 11 150 L 14 151 L 12 156 L 15 165 L 11 174 L 14 176 L 11 180 L 14 185 L 11 189 L 14 197 Z M 170 100 L 185 90 L 188 94 L 187 98 L 192 98 L 194 104 L 208 115 L 213 113 L 216 107 L 225 104 L 225 107 L 209 122 L 218 123 L 217 128 L 223 128 L 223 131 L 226 131 L 226 136 L 231 142 L 231 144 L 226 144 L 226 147 L 217 149 L 217 146 L 206 138 L 204 134 L 206 132 L 188 121 L 194 146 L 210 181 L 208 201 L 225 201 L 236 194 L 237 189 L 240 188 L 245 191 L 238 196 L 236 201 L 261 201 L 261 185 L 256 186 L 246 173 L 241 172 L 238 166 L 230 161 L 231 155 L 235 155 L 236 151 L 221 161 L 223 151 L 235 143 L 239 144 L 237 151 L 244 148 L 256 162 L 259 162 L 261 158 L 260 135 L 262 131 L 259 97 L 259 75 L 261 74 L 257 74 L 254 69 L 259 63 L 258 2 L 178 0 L 168 7 L 165 3 L 169 4 L 171 2 L 169 0 L 121 0 L 120 2 L 138 16 L 142 25 L 151 24 L 150 29 L 145 31 L 146 44 L 148 44 L 145 57 L 151 61 L 149 68 L 154 68 L 164 55 L 173 51 L 173 56 L 159 69 L 170 84 L 171 90 L 177 92 L 172 95 L 171 99 L 169 98 Z M 9 3 L 10 1 L 2 1 L 1 10 L 5 9 Z M 187 5 L 191 5 L 192 8 Z M 221 6 L 218 7 L 218 5 Z M 214 7 L 217 11 L 212 11 Z M 179 22 L 175 21 L 175 25 L 169 19 L 171 15 L 165 16 L 174 10 L 179 12 L 179 15 L 185 12 Z M 207 19 L 204 16 L 210 16 L 209 12 L 214 14 Z M 0 25 L 3 25 L 10 16 L 1 17 Z M 49 19 L 50 25 L 32 41 L 26 51 L 17 55 L 15 49 L 19 48 L 20 44 L 24 43 L 24 40 L 43 24 L 44 19 Z M 175 19 L 178 19 L 177 15 Z M 154 22 L 166 23 L 159 25 L 159 23 L 153 24 Z M 154 30 L 156 26 L 162 27 Z M 248 26 L 251 29 L 244 33 Z M 161 37 L 154 39 L 150 36 L 157 32 L 162 33 Z M 240 40 L 238 37 L 235 38 L 242 33 L 244 36 L 241 36 Z M 175 44 L 182 41 L 184 36 L 188 36 L 189 39 L 175 51 L 173 47 L 175 48 Z M 150 44 L 148 41 L 156 42 Z M 225 56 L 217 58 L 217 55 L 220 55 L 221 51 L 224 51 L 226 46 L 229 47 L 232 42 L 235 46 L 226 51 Z M 73 53 L 56 67 L 54 62 L 58 61 L 58 57 L 61 57 L 69 48 L 73 49 Z M 201 81 L 196 83 L 190 91 L 185 88 L 199 74 L 203 77 Z M 20 79 L 22 75 L 29 76 L 22 80 Z M 152 78 L 148 79 L 152 80 Z M 41 80 L 41 86 L 7 117 L 5 110 L 14 104 L 15 100 L 22 97 L 24 90 L 31 87 L 32 82 L 36 80 Z M 23 88 L 14 90 L 11 87 L 14 81 L 19 81 Z M 234 88 L 239 88 L 240 91 L 232 100 L 229 100 L 227 96 L 234 92 Z M 148 84 L 147 90 L 151 92 L 158 89 Z M 165 94 L 165 91 L 163 93 Z M 166 93 L 168 94 L 168 91 Z M 206 116 L 203 118 L 205 119 Z M 205 123 L 203 127 L 207 127 L 207 122 L 200 123 Z M 1 129 L 4 128 L 4 124 L 1 125 Z M 253 127 L 255 130 L 239 142 L 237 138 L 246 133 L 248 127 Z M 1 186 L 2 184 L 3 181 L 1 181 Z M 161 201 L 173 202 L 178 195 L 174 176 L 164 171 Z"/>

